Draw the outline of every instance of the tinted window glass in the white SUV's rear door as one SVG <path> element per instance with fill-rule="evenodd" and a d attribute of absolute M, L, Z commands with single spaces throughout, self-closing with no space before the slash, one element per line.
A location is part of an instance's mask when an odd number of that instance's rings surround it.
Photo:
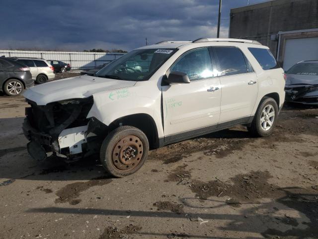
<path fill-rule="evenodd" d="M 247 73 L 243 53 L 237 47 L 214 47 L 218 76 Z"/>

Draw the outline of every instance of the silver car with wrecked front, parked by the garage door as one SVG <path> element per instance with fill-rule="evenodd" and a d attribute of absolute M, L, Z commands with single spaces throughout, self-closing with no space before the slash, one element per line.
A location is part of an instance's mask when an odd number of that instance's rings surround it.
<path fill-rule="evenodd" d="M 318 60 L 298 62 L 286 76 L 286 102 L 318 105 Z"/>

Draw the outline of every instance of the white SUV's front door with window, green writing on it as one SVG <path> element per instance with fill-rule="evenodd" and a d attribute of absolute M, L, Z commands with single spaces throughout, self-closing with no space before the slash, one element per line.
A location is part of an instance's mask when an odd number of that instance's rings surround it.
<path fill-rule="evenodd" d="M 184 53 L 170 71 L 187 73 L 190 84 L 162 86 L 164 141 L 212 131 L 220 118 L 221 84 L 207 47 Z"/>

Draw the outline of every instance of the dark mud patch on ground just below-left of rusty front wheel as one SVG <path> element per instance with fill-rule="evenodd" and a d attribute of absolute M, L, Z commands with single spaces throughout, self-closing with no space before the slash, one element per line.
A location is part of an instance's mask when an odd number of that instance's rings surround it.
<path fill-rule="evenodd" d="M 55 200 L 55 203 L 70 203 L 75 205 L 74 199 L 79 197 L 79 194 L 86 191 L 90 187 L 103 186 L 110 183 L 112 179 L 109 177 L 98 177 L 91 179 L 87 182 L 76 182 L 66 185 L 64 188 L 60 189 L 56 195 L 59 197 Z M 76 201 L 78 202 L 78 201 Z M 79 202 L 78 202 L 79 203 Z M 76 204 L 78 204 L 76 203 Z"/>

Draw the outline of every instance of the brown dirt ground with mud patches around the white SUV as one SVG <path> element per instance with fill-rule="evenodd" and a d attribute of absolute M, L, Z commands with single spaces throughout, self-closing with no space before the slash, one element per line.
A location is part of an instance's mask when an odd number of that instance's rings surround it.
<path fill-rule="evenodd" d="M 272 136 L 242 126 L 151 152 L 110 178 L 98 158 L 35 162 L 26 103 L 0 97 L 0 238 L 318 238 L 318 108 L 287 106 Z"/>

